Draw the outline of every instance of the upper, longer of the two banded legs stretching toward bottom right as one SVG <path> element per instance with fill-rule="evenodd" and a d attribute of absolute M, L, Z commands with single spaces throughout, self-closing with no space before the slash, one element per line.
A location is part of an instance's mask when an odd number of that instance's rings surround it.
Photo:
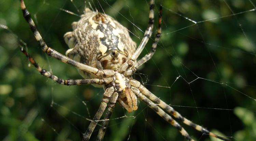
<path fill-rule="evenodd" d="M 208 135 L 213 136 L 215 138 L 219 138 L 221 140 L 228 141 L 228 139 L 220 137 L 218 135 L 215 135 L 212 132 L 210 132 L 209 130 L 205 129 L 204 127 L 202 127 L 200 125 L 197 125 L 197 124 L 191 122 L 190 120 L 184 118 L 179 112 L 175 111 L 171 106 L 169 106 L 168 104 L 163 102 L 161 99 L 159 99 L 157 96 L 155 96 L 153 93 L 151 93 L 149 90 L 147 90 L 143 85 L 140 84 L 140 82 L 138 82 L 136 80 L 131 80 L 130 84 L 132 86 L 138 88 L 139 91 L 141 93 L 143 93 L 147 98 L 152 100 L 155 104 L 158 104 L 162 109 L 167 111 L 169 114 L 171 114 L 176 119 L 181 120 L 186 125 L 195 128 L 196 130 L 202 132 L 203 134 L 208 134 Z"/>

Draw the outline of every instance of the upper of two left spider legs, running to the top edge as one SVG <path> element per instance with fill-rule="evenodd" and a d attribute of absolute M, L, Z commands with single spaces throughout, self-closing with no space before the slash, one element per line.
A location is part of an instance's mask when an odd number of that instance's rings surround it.
<path fill-rule="evenodd" d="M 35 27 L 34 21 L 32 20 L 30 13 L 28 12 L 28 10 L 26 9 L 26 5 L 24 3 L 23 0 L 20 0 L 20 6 L 22 8 L 22 12 L 23 12 L 23 17 L 26 19 L 26 21 L 28 22 L 31 31 L 33 32 L 35 39 L 39 42 L 41 49 L 49 56 L 52 56 L 64 63 L 67 63 L 69 65 L 75 66 L 78 69 L 81 69 L 83 71 L 89 72 L 91 74 L 95 74 L 97 76 L 113 76 L 114 75 L 114 71 L 113 70 L 98 70 L 97 68 L 79 63 L 65 55 L 62 55 L 61 53 L 55 51 L 52 48 L 47 47 L 46 43 L 44 42 L 42 36 L 40 35 L 39 31 L 37 30 L 37 28 Z"/>

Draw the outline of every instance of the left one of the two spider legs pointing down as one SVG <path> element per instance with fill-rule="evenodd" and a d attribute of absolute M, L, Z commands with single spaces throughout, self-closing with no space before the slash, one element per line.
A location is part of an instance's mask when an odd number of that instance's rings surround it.
<path fill-rule="evenodd" d="M 103 94 L 103 99 L 101 101 L 100 107 L 98 109 L 98 111 L 96 112 L 93 120 L 91 121 L 90 125 L 88 126 L 87 130 L 85 131 L 85 133 L 83 134 L 83 141 L 88 141 L 90 139 L 91 134 L 93 133 L 93 130 L 95 128 L 95 126 L 98 123 L 98 120 L 100 119 L 100 117 L 102 116 L 104 110 L 106 109 L 106 106 L 109 103 L 109 98 L 111 97 L 111 95 L 114 92 L 114 87 L 110 87 L 107 88 Z"/>

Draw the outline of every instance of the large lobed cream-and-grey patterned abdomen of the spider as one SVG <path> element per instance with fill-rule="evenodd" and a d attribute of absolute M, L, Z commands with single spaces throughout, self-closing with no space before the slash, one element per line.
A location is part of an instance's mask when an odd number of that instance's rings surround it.
<path fill-rule="evenodd" d="M 70 48 L 66 55 L 91 67 L 118 70 L 136 50 L 128 30 L 108 15 L 86 8 L 72 27 L 73 31 L 64 35 Z M 84 71 L 80 74 L 84 78 L 95 77 Z"/>

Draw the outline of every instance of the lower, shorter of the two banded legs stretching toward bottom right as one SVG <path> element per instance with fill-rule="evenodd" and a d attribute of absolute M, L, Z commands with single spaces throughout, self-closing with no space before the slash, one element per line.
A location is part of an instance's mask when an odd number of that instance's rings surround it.
<path fill-rule="evenodd" d="M 139 99 L 146 103 L 147 106 L 153 109 L 160 117 L 162 117 L 165 121 L 169 122 L 172 126 L 177 128 L 182 136 L 184 136 L 189 141 L 194 141 L 179 123 L 177 123 L 169 114 L 167 114 L 160 107 L 158 107 L 158 105 L 155 105 L 155 103 L 153 103 L 150 99 L 143 95 L 138 88 L 131 86 L 131 90 L 137 95 Z"/>

